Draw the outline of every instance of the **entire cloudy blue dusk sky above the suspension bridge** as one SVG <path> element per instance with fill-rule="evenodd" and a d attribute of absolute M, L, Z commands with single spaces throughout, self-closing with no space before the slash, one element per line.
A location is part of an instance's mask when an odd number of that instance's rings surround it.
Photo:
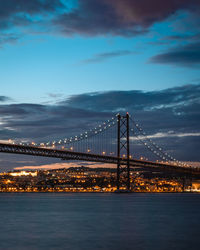
<path fill-rule="evenodd" d="M 199 26 L 200 0 L 0 0 L 0 140 L 63 138 L 128 111 L 166 152 L 200 161 Z"/>

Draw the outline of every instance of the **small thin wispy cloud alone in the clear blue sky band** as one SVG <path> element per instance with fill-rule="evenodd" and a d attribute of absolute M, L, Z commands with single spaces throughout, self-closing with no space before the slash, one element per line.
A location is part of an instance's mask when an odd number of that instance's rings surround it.
<path fill-rule="evenodd" d="M 128 56 L 133 54 L 133 51 L 130 50 L 117 50 L 107 53 L 101 53 L 94 55 L 93 57 L 81 61 L 82 64 L 90 64 L 90 63 L 100 63 L 106 60 L 109 60 L 114 57 L 120 57 L 120 56 Z"/>

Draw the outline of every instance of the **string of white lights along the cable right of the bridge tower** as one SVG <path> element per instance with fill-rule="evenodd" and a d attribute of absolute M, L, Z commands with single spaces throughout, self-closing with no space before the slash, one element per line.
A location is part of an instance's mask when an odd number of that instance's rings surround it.
<path fill-rule="evenodd" d="M 163 149 L 158 146 L 155 142 L 153 142 L 150 138 L 148 138 L 148 135 L 147 133 L 141 128 L 141 126 L 138 124 L 138 123 L 135 123 L 133 119 L 131 119 L 133 124 L 135 125 L 135 127 L 137 128 L 137 130 L 139 131 L 139 133 L 142 134 L 142 136 L 145 138 L 146 141 L 149 141 L 150 144 L 153 145 L 149 145 L 145 140 L 142 140 L 141 138 L 141 135 L 136 135 L 134 133 L 134 135 L 151 151 L 153 152 L 155 155 L 157 155 L 160 159 L 162 160 L 170 160 L 170 161 L 173 161 L 175 163 L 175 165 L 179 164 L 179 165 L 182 165 L 182 166 L 186 166 L 186 167 L 190 167 L 188 164 L 186 163 L 182 163 L 180 161 L 178 161 L 177 159 L 175 159 L 174 157 L 172 157 L 170 154 L 166 153 L 163 151 Z M 133 132 L 134 130 L 131 129 Z M 155 149 L 156 148 L 156 149 Z M 159 152 L 157 151 L 159 150 Z"/>

